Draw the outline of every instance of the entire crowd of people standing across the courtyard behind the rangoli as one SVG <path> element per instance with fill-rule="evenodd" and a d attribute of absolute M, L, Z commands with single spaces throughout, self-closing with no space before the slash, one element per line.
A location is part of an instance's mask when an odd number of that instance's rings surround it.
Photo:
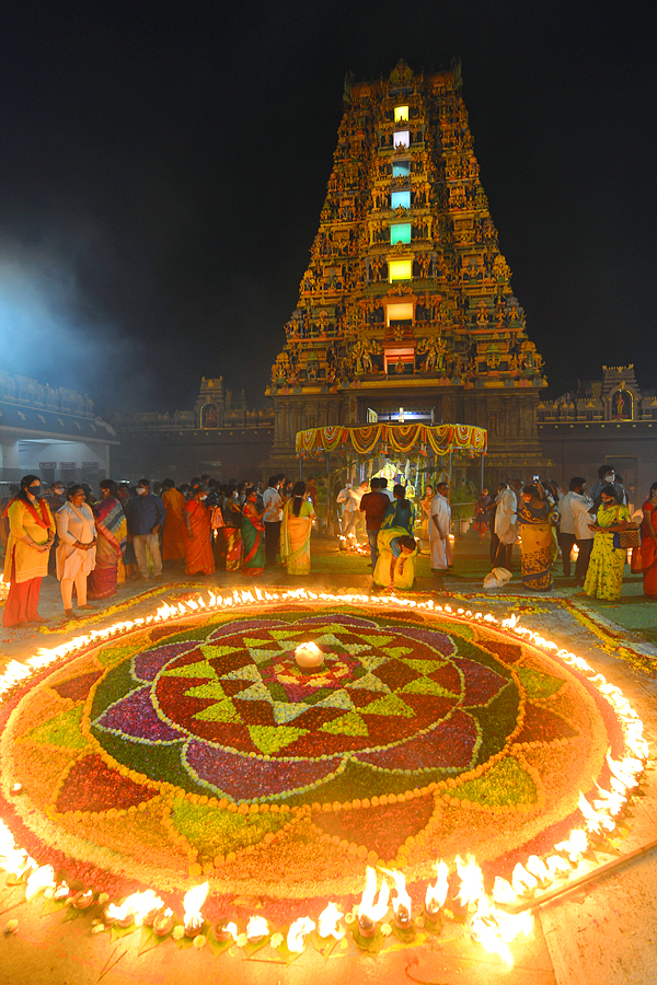
<path fill-rule="evenodd" d="M 68 617 L 73 604 L 93 609 L 128 579 L 161 579 L 163 565 L 200 577 L 224 570 L 257 578 L 276 566 L 308 575 L 311 531 L 325 491 L 313 479 L 292 483 L 285 475 L 270 476 L 266 487 L 222 485 L 203 475 L 178 487 L 164 479 L 152 489 L 147 478 L 134 487 L 104 479 L 96 497 L 85 484 L 65 488 L 56 482 L 46 488 L 38 476 L 26 475 L 0 501 L 10 586 L 3 625 L 46 622 L 37 606 L 47 573 L 60 582 Z M 341 543 L 348 548 L 358 536 L 367 540 L 374 586 L 412 588 L 415 558 L 425 544 L 434 575 L 452 570 L 449 491 L 443 480 L 428 485 L 417 509 L 404 484 L 389 489 L 383 476 L 356 487 L 346 483 L 337 491 Z M 570 577 L 575 553 L 575 582 L 583 593 L 615 600 L 632 546 L 632 569 L 643 572 L 645 595 L 657 599 L 657 483 L 643 505 L 641 525 L 627 507 L 622 477 L 604 465 L 590 493 L 581 476 L 570 479 L 565 494 L 539 476 L 528 484 L 500 483 L 495 496 L 484 488 L 472 525 L 482 538 L 489 531 L 494 569 L 510 571 L 519 543 L 522 582 L 534 591 L 553 588 L 560 554 L 563 573 Z"/>

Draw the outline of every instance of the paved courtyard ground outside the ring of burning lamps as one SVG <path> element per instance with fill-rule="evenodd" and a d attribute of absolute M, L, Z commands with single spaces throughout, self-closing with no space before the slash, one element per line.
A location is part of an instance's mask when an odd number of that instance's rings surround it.
<path fill-rule="evenodd" d="M 428 561 L 419 558 L 416 590 L 439 592 L 442 601 L 473 611 L 507 614 L 516 611 L 523 625 L 581 653 L 608 680 L 618 684 L 646 725 L 654 751 L 657 740 L 657 607 L 642 595 L 641 579 L 629 576 L 619 603 L 573 604 L 575 588 L 557 578 L 550 595 L 537 599 L 522 589 L 516 573 L 504 590 L 484 593 L 482 580 L 489 570 L 487 541 L 469 535 L 456 542 L 454 575 L 442 579 L 431 576 Z M 367 556 L 341 554 L 335 542 L 313 541 L 313 573 L 291 579 L 285 570 L 267 571 L 261 586 L 289 588 L 307 584 L 332 591 L 371 587 Z M 516 561 L 516 572 L 519 565 Z M 629 572 L 629 569 L 625 569 Z M 84 631 L 88 623 L 97 627 L 116 622 L 122 613 L 151 612 L 160 599 L 175 598 L 196 588 L 233 588 L 251 583 L 242 576 L 218 575 L 187 579 L 178 571 L 166 571 L 164 583 L 148 582 L 123 588 L 114 602 L 114 612 L 99 611 L 84 621 L 61 621 L 59 586 L 46 579 L 41 612 L 51 617 L 47 631 L 5 633 L 0 642 L 0 668 L 8 659 L 24 659 L 42 647 L 56 646 Z M 157 596 L 153 596 L 157 590 Z M 451 599 L 447 599 L 451 596 Z M 623 851 L 648 844 L 657 836 L 657 774 L 650 762 L 645 796 L 636 801 Z M 625 834 L 625 832 L 623 833 Z M 607 859 L 604 859 L 607 860 Z M 274 963 L 256 953 L 249 961 L 242 952 L 229 952 L 218 960 L 207 952 L 178 951 L 165 946 L 139 954 L 139 935 L 112 942 L 108 935 L 92 937 L 89 922 L 61 923 L 58 914 L 41 916 L 41 903 L 21 903 L 22 889 L 5 887 L 0 879 L 0 927 L 10 917 L 19 919 L 15 935 L 0 938 L 0 985 L 23 981 L 31 985 L 123 985 L 123 983 L 183 983 L 207 980 L 275 985 L 306 985 L 318 975 L 336 983 L 414 982 L 422 985 L 448 983 L 496 983 L 509 985 L 643 985 L 657 983 L 657 853 L 590 884 L 586 892 L 574 893 L 538 913 L 531 939 L 514 945 L 516 965 L 507 972 L 500 962 L 474 945 L 461 928 L 414 950 L 380 955 L 376 961 L 351 950 L 338 950 L 325 962 L 312 949 L 293 964 Z M 264 957 L 263 957 L 264 955 Z"/>

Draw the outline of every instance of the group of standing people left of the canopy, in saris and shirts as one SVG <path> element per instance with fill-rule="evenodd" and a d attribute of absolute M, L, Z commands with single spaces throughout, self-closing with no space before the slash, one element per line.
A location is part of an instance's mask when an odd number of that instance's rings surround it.
<path fill-rule="evenodd" d="M 314 500 L 314 501 L 313 501 Z M 37 475 L 10 486 L 0 503 L 4 627 L 47 622 L 38 614 L 42 579 L 55 575 L 64 614 L 94 609 L 126 580 L 162 578 L 164 565 L 187 575 L 217 569 L 262 575 L 281 565 L 290 575 L 310 572 L 310 534 L 315 519 L 314 483 L 272 476 L 268 485 L 222 485 L 209 475 L 176 488 L 172 479 L 135 487 L 112 479 L 99 495 L 87 484 L 45 487 Z M 280 557 L 280 560 L 278 560 Z"/>

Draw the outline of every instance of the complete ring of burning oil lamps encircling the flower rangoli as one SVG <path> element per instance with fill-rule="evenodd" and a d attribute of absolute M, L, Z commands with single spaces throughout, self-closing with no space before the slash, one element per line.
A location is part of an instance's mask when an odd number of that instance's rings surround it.
<path fill-rule="evenodd" d="M 41 651 L 36 657 L 28 661 L 28 665 L 21 664 L 18 661 L 11 661 L 5 673 L 0 676 L 0 695 L 9 691 L 20 681 L 25 680 L 35 670 L 46 667 L 55 660 L 66 657 L 72 650 L 90 642 L 107 639 L 117 633 L 129 631 L 139 626 L 148 625 L 153 622 L 162 622 L 171 617 L 180 615 L 188 615 L 191 612 L 201 612 L 204 610 L 212 610 L 218 607 L 231 607 L 249 602 L 280 602 L 285 599 L 292 600 L 316 600 L 320 602 L 339 602 L 347 604 L 349 602 L 360 602 L 362 604 L 376 605 L 377 607 L 391 607 L 393 604 L 399 607 L 410 607 L 418 610 L 429 610 L 434 612 L 447 612 L 452 614 L 449 605 L 435 605 L 433 600 L 416 601 L 411 599 L 399 598 L 377 598 L 372 599 L 368 595 L 333 595 L 321 592 L 307 592 L 304 589 L 297 589 L 286 592 L 283 596 L 278 593 L 261 592 L 255 589 L 255 598 L 251 591 L 237 590 L 229 596 L 216 596 L 210 593 L 209 600 L 206 602 L 203 598 L 197 600 L 185 600 L 185 603 L 176 605 L 165 604 L 157 615 L 137 618 L 132 622 L 122 623 L 105 629 L 92 630 L 92 633 L 82 638 L 70 640 L 53 650 Z M 484 615 L 481 613 L 465 612 L 459 609 L 456 615 L 463 615 L 474 621 L 482 619 L 487 623 L 497 623 L 493 615 Z M 558 647 L 538 636 L 530 629 L 518 626 L 516 616 L 511 615 L 507 619 L 503 619 L 502 626 L 506 629 L 515 631 L 519 636 L 525 636 L 533 644 L 553 650 L 561 657 L 564 662 L 575 667 L 588 676 L 588 680 L 595 684 L 612 705 L 622 722 L 627 750 L 632 753 L 621 761 L 614 761 L 608 754 L 607 762 L 610 769 L 610 787 L 611 790 L 603 790 L 598 787 L 599 797 L 590 804 L 584 795 L 580 795 L 579 808 L 586 820 L 586 830 L 578 828 L 570 833 L 567 841 L 555 846 L 555 854 L 549 856 L 544 861 L 538 856 L 531 856 L 527 866 L 517 865 L 511 881 L 500 877 L 495 879 L 491 895 L 485 892 L 483 873 L 476 865 L 474 858 L 468 857 L 468 861 L 463 862 L 457 858 L 457 873 L 460 879 L 460 889 L 454 896 L 454 903 L 450 902 L 450 906 L 461 906 L 463 916 L 468 916 L 470 929 L 473 938 L 480 941 L 483 947 L 493 953 L 497 953 L 508 964 L 512 964 L 512 955 L 508 945 L 519 935 L 529 934 L 532 927 L 532 917 L 527 906 L 522 913 L 510 913 L 508 907 L 518 909 L 518 901 L 522 896 L 531 896 L 537 890 L 542 889 L 555 879 L 564 877 L 569 871 L 572 865 L 576 865 L 589 847 L 589 838 L 596 838 L 604 832 L 611 832 L 615 827 L 614 818 L 620 814 L 627 797 L 635 788 L 638 777 L 643 772 L 643 763 L 647 758 L 647 743 L 643 738 L 643 723 L 637 717 L 630 703 L 625 699 L 621 691 L 615 685 L 609 684 L 601 674 L 595 674 L 591 667 L 580 657 L 568 653 L 565 650 L 558 650 Z M 20 792 L 20 785 L 16 784 L 14 792 Z M 565 858 L 564 858 L 565 856 Z M 48 895 L 53 895 L 56 900 L 66 900 L 78 908 L 91 906 L 94 902 L 93 890 L 81 893 L 71 893 L 66 883 L 57 884 L 55 874 L 50 866 L 38 867 L 25 851 L 15 847 L 11 832 L 0 821 L 0 865 L 14 876 L 19 876 L 26 880 L 27 897 L 32 899 L 39 891 L 45 891 Z M 396 870 L 384 869 L 394 885 L 396 895 L 392 900 L 392 908 L 394 923 L 400 929 L 408 929 L 412 926 L 412 901 L 406 891 L 403 873 Z M 200 908 L 205 903 L 208 891 L 207 883 L 196 887 L 185 895 L 184 899 L 184 919 L 182 925 L 176 923 L 173 912 L 165 907 L 162 901 L 155 895 L 154 891 L 147 890 L 145 893 L 136 893 L 125 900 L 120 906 L 107 903 L 103 912 L 103 922 L 96 924 L 94 929 L 104 929 L 106 924 L 118 923 L 124 926 L 130 926 L 132 923 L 148 924 L 151 923 L 153 931 L 157 935 L 166 936 L 172 932 L 174 936 L 187 935 L 194 939 L 203 938 L 201 930 L 205 920 L 200 913 Z M 366 887 L 360 904 L 357 907 L 358 930 L 359 934 L 367 938 L 373 936 L 377 927 L 388 916 L 390 909 L 390 884 L 383 879 L 377 894 L 377 873 L 371 867 L 368 867 L 366 873 Z M 445 902 L 449 891 L 449 869 L 446 862 L 437 864 L 437 882 L 429 885 L 424 903 L 424 916 L 429 922 L 439 919 L 445 907 Z M 100 901 L 102 897 L 100 897 Z M 100 902 L 99 901 L 99 902 Z M 500 908 L 500 907 L 507 907 Z M 303 950 L 307 936 L 314 929 L 318 930 L 320 937 L 342 938 L 346 932 L 345 924 L 354 923 L 355 914 L 343 914 L 337 909 L 335 904 L 330 903 L 320 914 L 318 924 L 310 917 L 301 917 L 295 920 L 289 927 L 286 942 L 290 951 Z M 385 927 L 384 924 L 382 924 Z M 237 925 L 233 922 L 223 922 L 216 927 L 216 935 L 219 939 L 233 939 L 238 943 L 256 942 L 264 940 L 270 935 L 270 929 L 264 917 L 251 917 L 246 925 L 246 930 L 242 935 L 238 932 Z M 276 935 L 272 935 L 272 942 L 276 939 Z M 283 942 L 283 936 L 280 936 Z"/>

